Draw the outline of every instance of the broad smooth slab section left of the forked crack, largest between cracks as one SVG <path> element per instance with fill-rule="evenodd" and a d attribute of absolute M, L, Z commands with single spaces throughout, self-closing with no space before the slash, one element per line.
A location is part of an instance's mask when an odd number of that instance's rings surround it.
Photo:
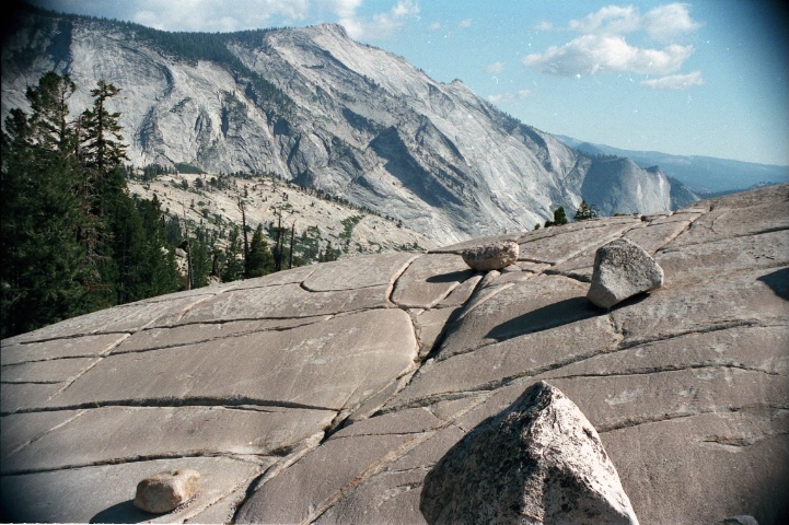
<path fill-rule="evenodd" d="M 417 349 L 408 314 L 373 310 L 295 331 L 109 355 L 47 405 L 209 399 L 340 410 L 409 370 Z"/>

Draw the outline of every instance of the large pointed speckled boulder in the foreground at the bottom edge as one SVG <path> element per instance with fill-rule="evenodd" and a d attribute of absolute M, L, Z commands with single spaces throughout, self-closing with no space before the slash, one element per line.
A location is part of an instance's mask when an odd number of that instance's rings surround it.
<path fill-rule="evenodd" d="M 425 478 L 430 524 L 637 524 L 597 432 L 545 382 L 483 421 Z"/>

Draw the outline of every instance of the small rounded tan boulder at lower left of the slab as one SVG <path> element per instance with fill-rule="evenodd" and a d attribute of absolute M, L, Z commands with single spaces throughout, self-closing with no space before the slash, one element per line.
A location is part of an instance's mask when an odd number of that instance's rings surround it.
<path fill-rule="evenodd" d="M 137 483 L 135 506 L 164 514 L 189 501 L 200 486 L 200 472 L 190 468 L 154 474 Z"/>

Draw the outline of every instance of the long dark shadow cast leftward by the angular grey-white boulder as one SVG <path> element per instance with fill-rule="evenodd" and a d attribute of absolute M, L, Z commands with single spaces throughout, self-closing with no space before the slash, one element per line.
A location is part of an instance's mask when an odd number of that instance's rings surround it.
<path fill-rule="evenodd" d="M 502 323 L 494 327 L 485 337 L 503 341 L 525 334 L 549 330 L 602 314 L 604 314 L 604 311 L 594 306 L 587 298 L 566 299 Z"/>

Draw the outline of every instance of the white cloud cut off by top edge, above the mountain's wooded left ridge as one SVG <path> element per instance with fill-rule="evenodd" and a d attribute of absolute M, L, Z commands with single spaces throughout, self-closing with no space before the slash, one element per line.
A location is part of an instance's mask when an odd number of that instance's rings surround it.
<path fill-rule="evenodd" d="M 166 31 L 231 32 L 265 27 L 274 16 L 306 18 L 309 0 L 140 0 L 130 20 Z"/>

